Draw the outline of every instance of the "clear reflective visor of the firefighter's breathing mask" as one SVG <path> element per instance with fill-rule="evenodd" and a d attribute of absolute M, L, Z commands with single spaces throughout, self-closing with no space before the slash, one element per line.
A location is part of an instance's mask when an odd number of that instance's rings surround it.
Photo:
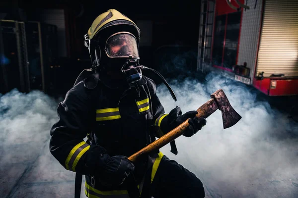
<path fill-rule="evenodd" d="M 117 33 L 108 38 L 106 53 L 111 58 L 130 57 L 139 58 L 137 40 L 128 32 Z"/>

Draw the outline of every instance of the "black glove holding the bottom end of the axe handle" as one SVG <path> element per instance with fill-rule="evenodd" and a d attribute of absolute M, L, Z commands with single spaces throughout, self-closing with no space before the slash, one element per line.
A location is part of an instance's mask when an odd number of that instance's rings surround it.
<path fill-rule="evenodd" d="M 107 153 L 105 153 L 107 155 Z M 106 187 L 117 187 L 135 170 L 134 164 L 122 155 L 107 157 L 101 174 L 97 177 Z"/>

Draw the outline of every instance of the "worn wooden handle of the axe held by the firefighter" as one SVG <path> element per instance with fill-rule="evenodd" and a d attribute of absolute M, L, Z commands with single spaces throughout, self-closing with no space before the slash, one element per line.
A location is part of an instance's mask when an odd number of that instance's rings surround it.
<path fill-rule="evenodd" d="M 217 102 L 214 99 L 210 99 L 198 108 L 197 110 L 198 114 L 196 116 L 207 118 L 209 115 L 214 113 L 217 109 L 218 109 Z M 128 157 L 128 159 L 135 162 L 139 156 L 149 153 L 153 150 L 157 150 L 165 146 L 166 144 L 172 142 L 173 140 L 175 140 L 176 138 L 178 138 L 184 133 L 184 130 L 189 126 L 188 120 L 189 119 L 185 120 L 182 124 L 180 124 L 172 131 L 168 132 L 164 136 L 152 142 L 147 147 L 142 148 L 135 154 L 131 155 L 130 157 Z"/>

